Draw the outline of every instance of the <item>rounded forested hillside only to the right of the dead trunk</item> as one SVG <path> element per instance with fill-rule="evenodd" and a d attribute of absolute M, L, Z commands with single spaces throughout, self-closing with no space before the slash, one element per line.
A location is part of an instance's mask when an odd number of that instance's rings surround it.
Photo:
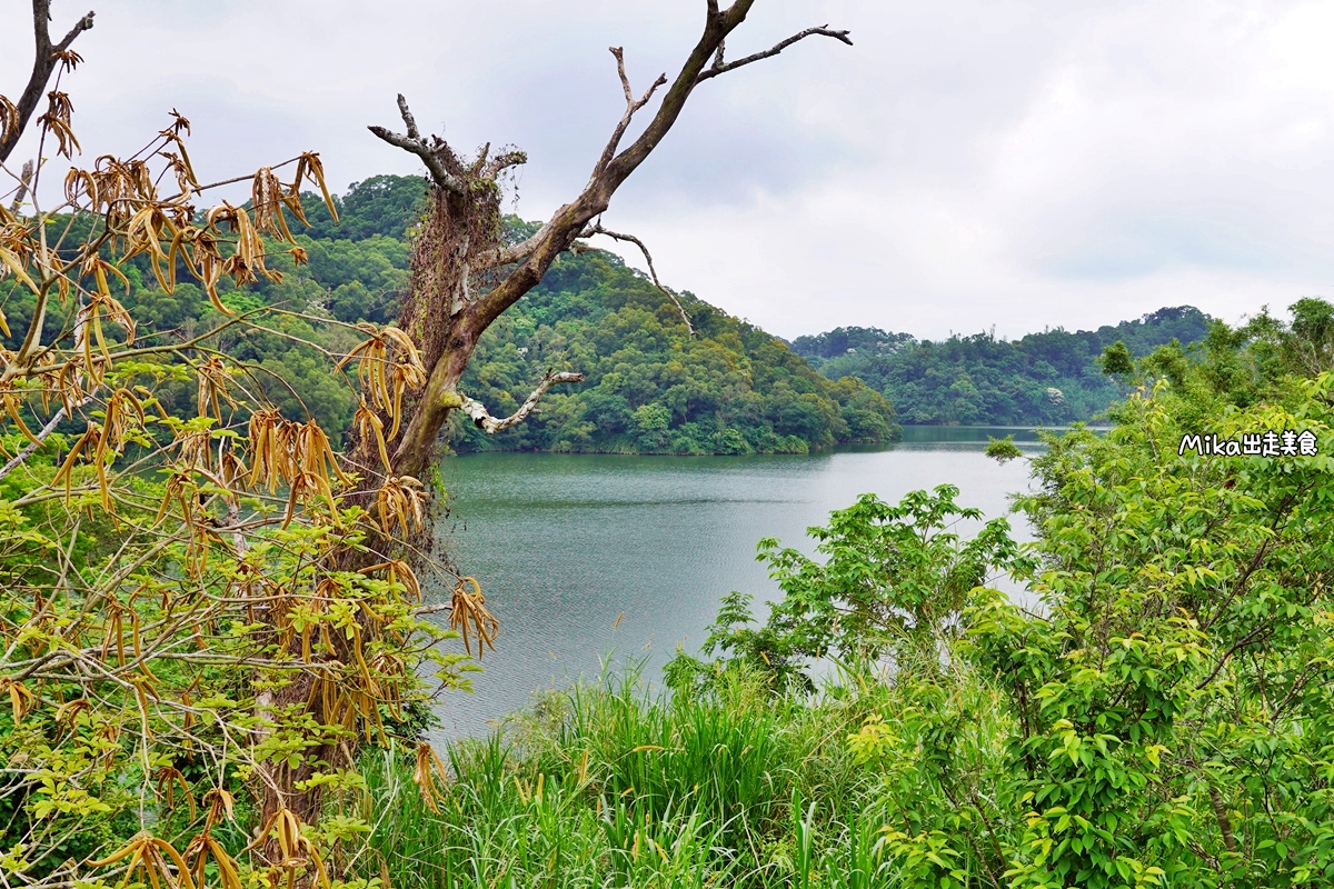
<path fill-rule="evenodd" d="M 652 281 L 600 251 L 562 257 L 491 328 L 464 391 L 510 413 L 548 367 L 587 375 L 548 395 L 542 413 L 487 439 L 463 419 L 459 450 L 806 453 L 898 437 L 894 409 L 859 380 L 831 383 L 764 333 L 695 299 L 676 307 Z"/>

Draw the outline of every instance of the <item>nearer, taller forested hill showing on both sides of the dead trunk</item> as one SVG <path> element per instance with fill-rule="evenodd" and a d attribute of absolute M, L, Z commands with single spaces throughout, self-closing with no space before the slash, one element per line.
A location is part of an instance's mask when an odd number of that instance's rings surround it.
<path fill-rule="evenodd" d="M 311 225 L 297 240 L 309 263 L 281 268 L 281 281 L 261 279 L 237 291 L 219 285 L 233 311 L 261 307 L 292 315 L 265 324 L 289 337 L 225 328 L 216 345 L 247 361 L 247 385 L 267 391 L 292 419 L 307 412 L 332 431 L 347 429 L 356 405 L 313 343 L 346 353 L 363 336 L 343 324 L 392 321 L 408 281 L 408 231 L 420 215 L 423 180 L 376 176 L 336 199 L 335 223 L 307 196 Z M 526 224 L 511 220 L 512 235 Z M 299 231 L 292 223 L 293 232 Z M 129 292 L 121 300 L 140 320 L 140 336 L 180 339 L 219 327 L 224 316 L 189 277 L 164 293 L 141 255 L 124 264 Z M 11 288 L 12 289 L 12 288 Z M 5 293 L 0 293 L 5 297 Z M 11 331 L 23 336 L 32 300 L 21 289 L 0 299 Z M 859 380 L 834 383 L 806 359 L 756 327 L 686 293 L 695 336 L 671 300 L 612 253 L 563 255 L 539 288 L 486 333 L 463 380 L 466 395 L 495 416 L 512 413 L 548 368 L 579 371 L 582 384 L 562 385 L 540 413 L 488 437 L 456 415 L 450 443 L 458 450 L 488 448 L 632 453 L 804 453 L 839 443 L 892 440 L 892 407 Z M 320 319 L 327 319 L 321 321 Z M 68 319 L 48 320 L 53 335 Z M 291 337 L 295 337 L 291 339 Z M 13 337 L 0 340 L 17 348 Z M 179 389 L 179 392 L 176 391 Z M 169 409 L 193 409 L 195 392 L 171 384 Z M 172 403 L 176 404 L 172 404 Z"/>

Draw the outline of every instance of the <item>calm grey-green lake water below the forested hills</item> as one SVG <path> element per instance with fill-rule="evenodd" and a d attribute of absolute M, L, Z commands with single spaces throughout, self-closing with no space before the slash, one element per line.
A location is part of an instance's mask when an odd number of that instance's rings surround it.
<path fill-rule="evenodd" d="M 646 678 L 656 682 L 678 644 L 694 653 L 704 641 L 730 590 L 756 604 L 778 596 L 755 561 L 760 537 L 810 553 L 806 528 L 860 493 L 898 501 L 950 482 L 962 505 L 1007 516 L 1009 494 L 1027 490 L 1027 461 L 1002 466 L 982 450 L 987 435 L 1010 433 L 1039 446 L 1029 431 L 906 427 L 894 446 L 806 457 L 447 458 L 451 516 L 439 545 L 482 582 L 500 634 L 486 672 L 472 674 L 475 693 L 444 696 L 434 740 L 483 734 L 534 690 L 596 677 L 608 656 L 614 665 L 647 658 Z M 1030 538 L 1021 516 L 1010 521 Z M 435 601 L 446 594 L 427 589 Z"/>

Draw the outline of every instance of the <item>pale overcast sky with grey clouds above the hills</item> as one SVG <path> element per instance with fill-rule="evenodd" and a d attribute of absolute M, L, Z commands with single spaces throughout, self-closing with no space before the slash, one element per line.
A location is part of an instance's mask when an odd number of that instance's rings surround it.
<path fill-rule="evenodd" d="M 179 108 L 201 177 L 319 151 L 342 191 L 415 159 L 366 131 L 528 152 L 518 212 L 578 193 L 636 89 L 674 75 L 703 0 L 55 0 L 91 163 Z M 0 93 L 31 65 L 0 0 Z M 1334 284 L 1334 3 L 758 0 L 604 223 L 659 275 L 786 337 L 1089 328 L 1163 305 L 1230 321 Z M 15 159 L 21 155 L 16 153 Z M 638 264 L 638 257 L 628 257 Z"/>

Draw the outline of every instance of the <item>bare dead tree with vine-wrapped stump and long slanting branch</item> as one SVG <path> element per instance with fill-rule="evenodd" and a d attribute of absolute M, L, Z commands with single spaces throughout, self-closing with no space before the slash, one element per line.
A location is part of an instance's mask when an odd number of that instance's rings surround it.
<path fill-rule="evenodd" d="M 411 421 L 396 443 L 390 443 L 395 476 L 419 477 L 427 469 L 436 437 L 451 411 L 462 409 L 479 428 L 496 432 L 522 421 L 554 383 L 576 380 L 578 375 L 571 373 L 548 375 L 524 401 L 523 408 L 507 420 L 495 420 L 483 405 L 459 391 L 459 380 L 482 333 L 535 288 L 556 257 L 574 248 L 579 239 L 606 235 L 639 245 L 648 257 L 647 248 L 639 239 L 610 232 L 595 220 L 606 212 L 622 183 L 671 131 L 691 93 L 700 84 L 776 56 L 806 37 L 823 36 L 852 44 L 847 31 L 822 25 L 795 33 L 763 52 L 726 61 L 724 41 L 746 20 L 754 4 L 755 0 L 735 0 L 724 9 L 718 0 L 707 0 L 703 33 L 680 72 L 670 85 L 666 75 L 658 77 L 638 97 L 626 73 L 622 48 L 611 49 L 626 96 L 626 111 L 594 164 L 583 191 L 552 213 L 534 236 L 518 244 L 506 244 L 503 239 L 498 176 L 526 163 L 523 152 L 508 151 L 492 157 L 488 145 L 476 157 L 464 160 L 439 136 L 422 135 L 403 96 L 399 96 L 399 112 L 406 133 L 383 127 L 370 128 L 391 145 L 420 157 L 431 180 L 430 209 L 414 249 L 411 288 L 399 317 L 399 327 L 418 344 L 427 383 L 412 405 Z M 622 148 L 622 140 L 635 115 L 652 101 L 660 87 L 667 87 L 667 92 L 652 120 L 634 143 Z M 650 272 L 656 283 L 658 276 L 651 263 L 650 260 Z M 483 285 L 488 275 L 499 276 L 490 288 Z M 668 296 L 682 308 L 675 295 L 668 292 Z M 684 311 L 682 316 L 688 327 Z M 366 449 L 374 445 L 363 441 L 356 446 Z"/>

